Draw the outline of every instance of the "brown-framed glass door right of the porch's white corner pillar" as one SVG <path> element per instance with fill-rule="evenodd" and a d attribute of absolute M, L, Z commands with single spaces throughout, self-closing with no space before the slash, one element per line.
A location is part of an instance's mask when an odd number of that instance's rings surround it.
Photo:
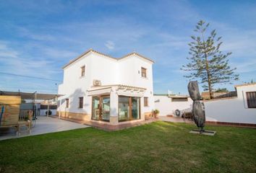
<path fill-rule="evenodd" d="M 119 121 L 140 119 L 140 98 L 119 96 Z"/>

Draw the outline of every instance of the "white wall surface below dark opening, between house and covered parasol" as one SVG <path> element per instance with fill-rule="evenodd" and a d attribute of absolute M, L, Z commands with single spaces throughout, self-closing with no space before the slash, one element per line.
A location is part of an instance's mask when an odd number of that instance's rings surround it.
<path fill-rule="evenodd" d="M 155 109 L 160 111 L 160 116 L 174 115 L 175 110 L 191 111 L 192 99 L 188 98 L 187 102 L 171 102 L 171 98 L 168 96 L 155 95 Z"/>

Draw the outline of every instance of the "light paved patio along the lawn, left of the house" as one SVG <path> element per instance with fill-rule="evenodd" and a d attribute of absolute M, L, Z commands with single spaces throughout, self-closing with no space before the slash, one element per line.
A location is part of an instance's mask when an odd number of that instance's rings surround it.
<path fill-rule="evenodd" d="M 60 120 L 59 118 L 38 116 L 35 127 L 32 128 L 29 134 L 26 128 L 22 128 L 21 135 L 16 135 L 14 128 L 0 128 L 0 141 L 9 138 L 21 138 L 25 136 L 35 136 L 45 133 L 53 133 L 65 130 L 73 130 L 77 128 L 88 128 L 89 125 L 74 123 L 67 120 Z"/>

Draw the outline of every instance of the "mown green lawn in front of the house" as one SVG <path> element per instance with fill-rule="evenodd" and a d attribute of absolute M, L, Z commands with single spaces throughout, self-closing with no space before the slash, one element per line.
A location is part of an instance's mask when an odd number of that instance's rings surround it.
<path fill-rule="evenodd" d="M 256 130 L 155 122 L 0 141 L 0 172 L 256 172 Z"/>

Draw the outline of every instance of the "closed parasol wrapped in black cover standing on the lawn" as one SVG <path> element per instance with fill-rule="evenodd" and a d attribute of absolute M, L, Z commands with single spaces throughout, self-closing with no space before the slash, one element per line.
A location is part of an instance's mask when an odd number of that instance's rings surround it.
<path fill-rule="evenodd" d="M 193 100 L 192 114 L 197 128 L 200 128 L 200 133 L 204 132 L 205 127 L 205 110 L 198 88 L 197 81 L 189 81 L 187 86 L 189 89 L 189 96 Z"/>

